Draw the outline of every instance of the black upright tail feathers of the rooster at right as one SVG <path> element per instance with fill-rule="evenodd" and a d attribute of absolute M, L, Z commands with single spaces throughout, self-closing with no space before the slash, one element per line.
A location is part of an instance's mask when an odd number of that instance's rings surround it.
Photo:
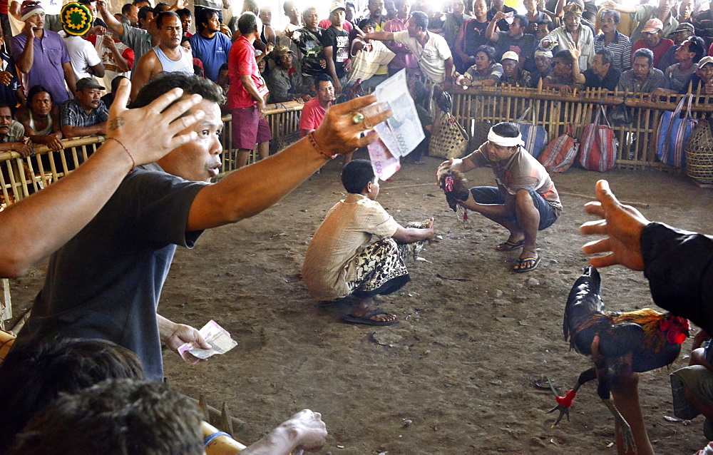
<path fill-rule="evenodd" d="M 601 289 L 602 277 L 600 277 L 597 268 L 591 265 L 585 267 L 582 275 L 572 286 L 569 297 L 567 297 L 562 327 L 565 334 L 565 341 L 567 341 L 573 329 L 579 324 L 580 317 L 591 315 L 593 312 L 604 309 L 604 302 L 602 302 L 600 295 Z M 572 342 L 574 342 L 574 340 L 572 340 Z"/>

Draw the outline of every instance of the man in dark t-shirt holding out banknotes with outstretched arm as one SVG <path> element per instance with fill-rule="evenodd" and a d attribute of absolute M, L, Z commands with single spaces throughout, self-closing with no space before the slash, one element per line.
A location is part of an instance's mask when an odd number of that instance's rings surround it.
<path fill-rule="evenodd" d="M 359 134 L 391 115 L 354 123 L 354 111 L 376 98 L 344 103 L 307 138 L 210 184 L 222 163 L 222 89 L 198 76 L 166 73 L 148 83 L 134 105 L 147 106 L 176 87 L 202 96 L 191 112 L 205 115 L 183 130 L 196 133 L 195 140 L 127 175 L 91 223 L 51 257 L 16 345 L 56 336 L 108 339 L 135 352 L 148 379 L 163 379 L 161 342 L 176 352 L 183 342 L 202 341 L 193 327 L 157 315 L 176 246 L 191 248 L 203 230 L 257 215 L 333 155 L 371 143 L 376 135 Z"/>

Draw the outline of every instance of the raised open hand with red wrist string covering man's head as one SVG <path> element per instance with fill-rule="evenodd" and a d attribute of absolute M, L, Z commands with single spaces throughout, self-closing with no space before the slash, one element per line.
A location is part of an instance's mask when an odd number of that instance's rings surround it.
<path fill-rule="evenodd" d="M 106 131 L 109 138 L 118 140 L 128 150 L 136 165 L 153 163 L 171 150 L 198 138 L 195 131 L 179 133 L 205 115 L 202 111 L 195 111 L 180 117 L 200 103 L 202 98 L 199 95 L 185 96 L 167 108 L 183 95 L 182 89 L 174 88 L 148 106 L 127 109 L 130 89 L 131 83 L 122 79 L 109 110 Z M 161 128 L 156 128 L 157 125 Z"/>

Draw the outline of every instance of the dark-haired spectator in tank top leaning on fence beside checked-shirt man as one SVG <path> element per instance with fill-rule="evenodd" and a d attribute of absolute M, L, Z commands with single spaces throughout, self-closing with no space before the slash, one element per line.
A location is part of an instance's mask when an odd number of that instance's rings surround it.
<path fill-rule="evenodd" d="M 32 143 L 47 145 L 51 150 L 63 150 L 59 106 L 52 103 L 52 93 L 45 86 L 30 88 L 26 105 L 19 108 L 16 118 Z"/>

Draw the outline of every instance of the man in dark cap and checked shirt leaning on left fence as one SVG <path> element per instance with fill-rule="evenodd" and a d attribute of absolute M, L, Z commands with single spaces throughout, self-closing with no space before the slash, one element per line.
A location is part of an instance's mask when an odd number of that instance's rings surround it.
<path fill-rule="evenodd" d="M 94 78 L 77 82 L 77 94 L 62 106 L 60 126 L 65 138 L 106 134 L 109 110 L 101 101 L 104 87 Z"/>

